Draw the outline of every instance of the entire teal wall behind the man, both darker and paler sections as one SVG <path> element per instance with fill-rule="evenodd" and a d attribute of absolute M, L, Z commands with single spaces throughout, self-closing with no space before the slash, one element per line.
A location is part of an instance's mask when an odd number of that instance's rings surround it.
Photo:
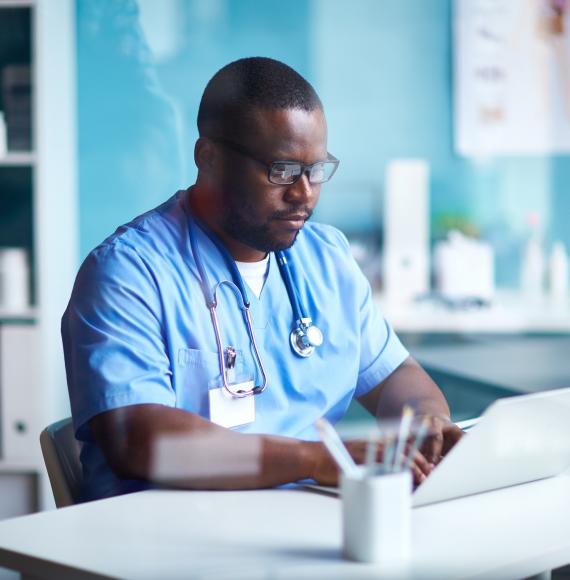
<path fill-rule="evenodd" d="M 77 0 L 82 255 L 192 182 L 201 91 L 221 66 L 251 55 L 289 63 L 324 101 L 341 167 L 319 219 L 380 232 L 387 161 L 421 157 L 432 171 L 434 236 L 450 214 L 470 222 L 495 247 L 500 284 L 516 283 L 530 212 L 547 239 L 570 246 L 567 157 L 453 152 L 451 0 L 165 0 L 144 26 L 138 8 Z M 161 32 L 164 11 L 175 18 Z M 166 55 L 153 52 L 161 39 Z"/>

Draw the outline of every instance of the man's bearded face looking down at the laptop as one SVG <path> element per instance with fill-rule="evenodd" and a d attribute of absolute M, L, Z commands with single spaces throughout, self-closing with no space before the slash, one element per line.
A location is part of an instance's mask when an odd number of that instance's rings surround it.
<path fill-rule="evenodd" d="M 299 161 L 310 165 L 327 158 L 327 128 L 322 111 L 256 110 L 251 128 L 232 139 L 257 159 Z M 224 145 L 221 228 L 233 240 L 260 252 L 289 248 L 311 216 L 321 186 L 303 174 L 294 184 L 275 185 L 268 167 Z"/>

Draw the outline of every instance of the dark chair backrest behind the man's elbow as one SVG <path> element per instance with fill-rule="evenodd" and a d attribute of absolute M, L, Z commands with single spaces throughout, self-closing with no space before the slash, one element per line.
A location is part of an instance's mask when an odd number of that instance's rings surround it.
<path fill-rule="evenodd" d="M 75 439 L 71 418 L 46 427 L 40 435 L 40 445 L 55 505 L 59 508 L 77 503 L 83 471 L 79 459 L 81 444 Z"/>

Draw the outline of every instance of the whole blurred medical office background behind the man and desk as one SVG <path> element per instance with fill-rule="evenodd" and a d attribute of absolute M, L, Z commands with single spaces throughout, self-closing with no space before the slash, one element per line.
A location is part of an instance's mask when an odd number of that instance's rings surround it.
<path fill-rule="evenodd" d="M 313 219 L 347 235 L 452 418 L 570 386 L 565 9 L 0 0 L 0 518 L 54 507 L 39 434 L 70 413 L 59 325 L 81 261 L 193 183 L 202 90 L 244 56 L 319 93 L 340 166 Z M 338 429 L 370 421 L 353 404 Z"/>

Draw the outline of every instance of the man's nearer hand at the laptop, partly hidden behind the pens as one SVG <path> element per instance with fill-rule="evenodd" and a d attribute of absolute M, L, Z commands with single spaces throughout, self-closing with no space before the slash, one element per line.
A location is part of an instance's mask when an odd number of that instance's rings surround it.
<path fill-rule="evenodd" d="M 330 453 L 327 451 L 322 443 L 314 443 L 315 445 L 313 453 L 315 454 L 315 463 L 313 471 L 313 479 L 319 485 L 338 485 L 339 484 L 339 468 Z M 379 442 L 376 444 L 376 462 L 381 463 L 384 456 L 384 444 Z M 354 459 L 355 463 L 361 465 L 365 462 L 366 458 L 366 448 L 368 446 L 368 441 L 356 440 L 356 441 L 346 441 L 345 446 Z M 408 446 L 409 450 L 409 446 Z M 401 458 L 402 463 L 407 462 L 406 453 Z M 432 467 L 429 462 L 421 453 L 416 453 L 414 460 L 410 465 L 412 475 L 414 477 L 414 486 L 418 486 L 422 483 L 428 474 L 431 472 Z"/>

